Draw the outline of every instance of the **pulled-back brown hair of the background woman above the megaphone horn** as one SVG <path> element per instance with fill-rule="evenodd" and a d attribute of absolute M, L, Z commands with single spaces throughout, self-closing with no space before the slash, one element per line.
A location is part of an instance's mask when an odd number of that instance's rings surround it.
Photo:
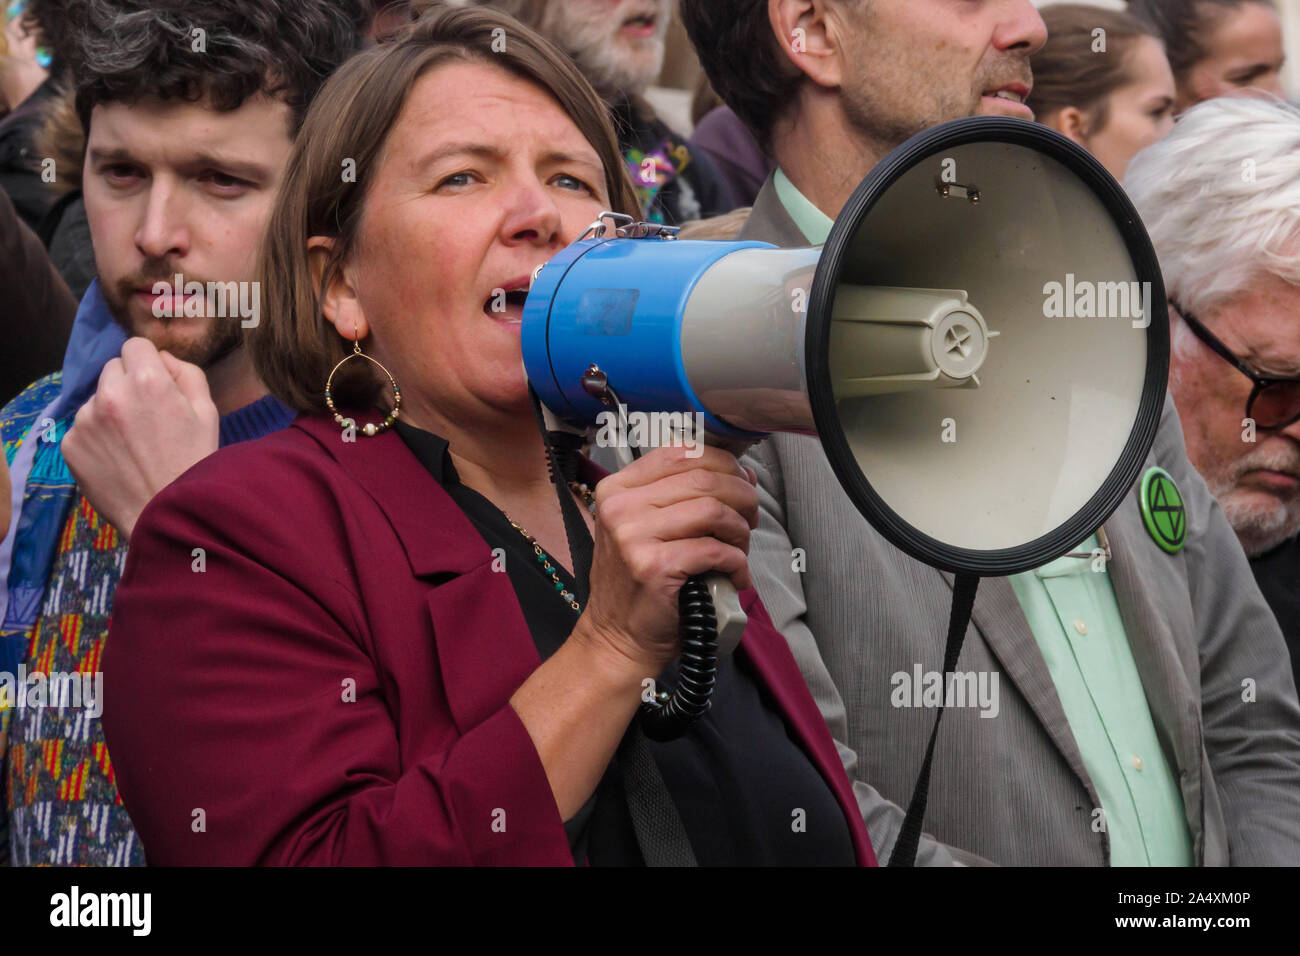
<path fill-rule="evenodd" d="M 1132 81 L 1134 47 L 1143 36 L 1160 40 L 1156 27 L 1123 10 L 1089 4 L 1052 4 L 1039 13 L 1048 42 L 1030 57 L 1034 88 L 1027 105 L 1039 122 L 1075 107 L 1088 117 L 1087 134 L 1100 133 L 1110 118 L 1110 94 Z M 1105 52 L 1095 48 L 1098 40 Z"/>

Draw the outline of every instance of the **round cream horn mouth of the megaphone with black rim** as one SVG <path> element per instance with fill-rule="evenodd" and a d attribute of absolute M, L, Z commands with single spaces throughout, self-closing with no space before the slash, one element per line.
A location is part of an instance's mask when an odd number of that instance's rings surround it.
<path fill-rule="evenodd" d="M 836 395 L 848 285 L 966 291 L 991 334 L 978 384 Z M 889 153 L 831 230 L 806 332 L 812 414 L 840 483 L 894 545 L 948 571 L 1027 571 L 1087 538 L 1136 480 L 1167 323 L 1147 232 L 1091 155 L 1036 124 L 956 120 Z M 941 341 L 959 368 L 953 332 Z"/>

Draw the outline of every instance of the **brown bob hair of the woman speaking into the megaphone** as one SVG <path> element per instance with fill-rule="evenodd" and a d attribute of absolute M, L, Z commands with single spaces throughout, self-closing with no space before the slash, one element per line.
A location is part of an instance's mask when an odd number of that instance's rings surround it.
<path fill-rule="evenodd" d="M 250 332 L 248 349 L 261 381 L 296 411 L 325 410 L 325 378 L 352 351 L 324 317 L 321 291 L 356 245 L 370 181 L 411 90 L 447 62 L 495 65 L 546 90 L 599 155 L 612 209 L 641 216 L 606 107 L 563 52 L 491 9 L 430 9 L 393 43 L 339 68 L 294 142 L 263 239 L 263 319 Z M 335 241 L 318 282 L 307 256 L 313 235 Z M 387 385 L 373 368 L 368 362 L 341 368 L 332 386 L 335 403 L 373 406 Z"/>

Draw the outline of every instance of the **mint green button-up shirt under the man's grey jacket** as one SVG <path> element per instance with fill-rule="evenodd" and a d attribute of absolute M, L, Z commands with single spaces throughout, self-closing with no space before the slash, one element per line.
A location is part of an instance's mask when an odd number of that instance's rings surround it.
<path fill-rule="evenodd" d="M 774 186 L 807 241 L 824 243 L 831 219 L 780 169 Z M 1093 535 L 1075 550 L 1096 548 Z M 1101 801 L 1089 822 L 1105 826 L 1112 866 L 1192 866 L 1183 793 L 1156 736 L 1105 562 L 1058 558 L 1009 580 Z"/>

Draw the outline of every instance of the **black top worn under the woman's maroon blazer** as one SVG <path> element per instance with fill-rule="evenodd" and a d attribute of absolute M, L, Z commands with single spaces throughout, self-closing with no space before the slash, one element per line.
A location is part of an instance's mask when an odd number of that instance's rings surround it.
<path fill-rule="evenodd" d="M 506 574 L 545 661 L 568 637 L 578 615 L 500 510 L 460 484 L 447 442 L 402 421 L 395 428 L 488 545 L 502 549 L 498 554 L 504 557 Z M 572 578 L 556 567 L 572 589 Z M 673 671 L 675 665 L 660 675 L 662 687 L 673 685 Z M 731 656 L 719 665 L 712 706 L 685 736 L 663 744 L 646 740 L 646 747 L 701 866 L 855 864 L 840 804 L 744 658 Z M 618 761 L 615 756 L 595 793 L 564 825 L 576 862 L 645 862 Z"/>

